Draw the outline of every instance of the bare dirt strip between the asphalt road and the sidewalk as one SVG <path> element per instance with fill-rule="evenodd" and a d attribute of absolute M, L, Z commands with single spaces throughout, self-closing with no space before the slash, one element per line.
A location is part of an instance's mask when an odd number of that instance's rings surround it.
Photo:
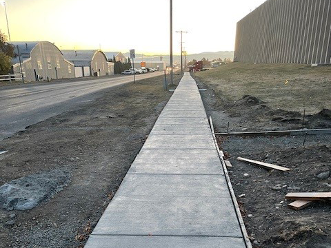
<path fill-rule="evenodd" d="M 0 185 L 56 170 L 70 178 L 31 210 L 0 210 L 1 248 L 83 247 L 171 96 L 162 80 L 112 87 L 1 141 Z"/>

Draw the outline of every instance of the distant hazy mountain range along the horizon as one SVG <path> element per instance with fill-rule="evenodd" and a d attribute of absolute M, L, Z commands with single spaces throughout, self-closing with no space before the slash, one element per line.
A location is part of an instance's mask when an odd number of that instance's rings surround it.
<path fill-rule="evenodd" d="M 126 52 L 124 56 L 128 57 L 129 53 Z M 160 56 L 162 56 L 163 61 L 169 64 L 169 55 L 145 55 L 145 54 L 136 54 L 135 61 L 160 61 Z M 233 51 L 219 51 L 219 52 L 201 52 L 199 54 L 188 54 L 186 55 L 186 62 L 192 61 L 193 59 L 199 61 L 202 58 L 209 59 L 212 61 L 213 59 L 225 59 L 231 58 L 233 59 L 234 52 Z M 181 63 L 181 56 L 174 55 L 174 63 Z"/>

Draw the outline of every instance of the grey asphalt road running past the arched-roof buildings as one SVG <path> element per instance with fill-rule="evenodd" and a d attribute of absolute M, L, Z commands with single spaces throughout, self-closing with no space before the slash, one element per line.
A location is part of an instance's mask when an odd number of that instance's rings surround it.
<path fill-rule="evenodd" d="M 136 75 L 136 79 L 160 76 L 163 72 Z M 0 141 L 29 125 L 72 110 L 97 98 L 101 90 L 133 81 L 133 76 L 35 83 L 0 87 Z"/>

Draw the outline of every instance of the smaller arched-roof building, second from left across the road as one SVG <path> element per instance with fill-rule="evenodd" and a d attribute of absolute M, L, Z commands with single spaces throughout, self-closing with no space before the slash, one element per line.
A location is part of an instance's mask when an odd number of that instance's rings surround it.
<path fill-rule="evenodd" d="M 74 63 L 76 77 L 114 74 L 114 63 L 101 50 L 62 50 L 63 56 Z"/>

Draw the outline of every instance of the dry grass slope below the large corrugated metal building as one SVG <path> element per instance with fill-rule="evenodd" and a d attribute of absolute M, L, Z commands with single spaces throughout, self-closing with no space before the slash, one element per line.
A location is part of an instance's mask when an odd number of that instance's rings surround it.
<path fill-rule="evenodd" d="M 257 96 L 270 107 L 308 114 L 331 109 L 331 66 L 230 63 L 195 74 L 219 96 Z"/>

